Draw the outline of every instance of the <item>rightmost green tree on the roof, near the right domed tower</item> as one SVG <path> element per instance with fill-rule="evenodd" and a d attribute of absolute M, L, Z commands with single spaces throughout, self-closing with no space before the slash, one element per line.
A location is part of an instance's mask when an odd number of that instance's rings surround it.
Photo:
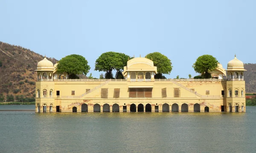
<path fill-rule="evenodd" d="M 201 73 L 203 78 L 211 78 L 210 71 L 218 67 L 218 61 L 212 55 L 202 55 L 197 58 L 192 67 L 195 72 Z"/>

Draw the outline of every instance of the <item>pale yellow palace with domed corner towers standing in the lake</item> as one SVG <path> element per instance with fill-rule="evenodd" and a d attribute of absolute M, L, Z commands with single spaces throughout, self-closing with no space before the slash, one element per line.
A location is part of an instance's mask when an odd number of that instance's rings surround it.
<path fill-rule="evenodd" d="M 125 79 L 67 79 L 38 62 L 36 112 L 245 112 L 244 64 L 236 56 L 212 79 L 154 79 L 157 67 L 133 58 Z M 227 78 L 227 79 L 225 79 Z"/>

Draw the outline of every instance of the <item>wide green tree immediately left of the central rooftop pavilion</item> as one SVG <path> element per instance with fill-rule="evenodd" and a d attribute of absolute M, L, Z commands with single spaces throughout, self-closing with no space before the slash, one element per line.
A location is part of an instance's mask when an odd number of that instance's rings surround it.
<path fill-rule="evenodd" d="M 117 71 L 116 77 L 120 77 L 120 72 L 122 73 L 123 67 L 127 64 L 128 55 L 118 52 L 105 52 L 99 56 L 95 62 L 95 69 L 106 72 L 105 78 L 113 78 L 113 70 Z M 121 76 L 123 77 L 123 76 Z"/>

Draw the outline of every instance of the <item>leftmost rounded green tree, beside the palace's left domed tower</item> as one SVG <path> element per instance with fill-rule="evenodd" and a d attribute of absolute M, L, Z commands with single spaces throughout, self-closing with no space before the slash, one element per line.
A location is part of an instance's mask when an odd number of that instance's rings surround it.
<path fill-rule="evenodd" d="M 87 60 L 81 55 L 67 55 L 58 62 L 57 72 L 66 72 L 69 78 L 77 78 L 76 75 L 86 75 L 90 70 Z"/>

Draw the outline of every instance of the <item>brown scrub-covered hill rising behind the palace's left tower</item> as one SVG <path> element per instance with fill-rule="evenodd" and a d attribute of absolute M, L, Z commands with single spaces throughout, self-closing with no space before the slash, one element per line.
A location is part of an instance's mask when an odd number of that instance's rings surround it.
<path fill-rule="evenodd" d="M 0 101 L 3 97 L 7 101 L 35 101 L 34 70 L 42 59 L 44 56 L 30 49 L 0 42 Z M 47 59 L 57 62 L 55 58 Z"/>

